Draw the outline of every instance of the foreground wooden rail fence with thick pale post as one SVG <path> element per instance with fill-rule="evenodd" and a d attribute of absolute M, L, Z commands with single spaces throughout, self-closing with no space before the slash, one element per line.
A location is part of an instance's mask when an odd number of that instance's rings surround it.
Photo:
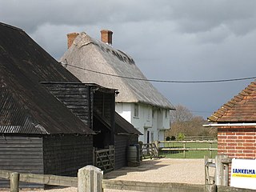
<path fill-rule="evenodd" d="M 18 192 L 18 182 L 36 182 L 39 184 L 56 185 L 56 186 L 75 186 L 78 192 L 102 192 L 108 190 L 138 190 L 145 192 L 252 192 L 254 190 L 238 189 L 226 185 L 225 169 L 223 168 L 230 160 L 226 156 L 218 155 L 216 162 L 210 162 L 206 158 L 206 169 L 210 165 L 216 167 L 216 176 L 214 184 L 209 183 L 206 179 L 205 185 L 194 185 L 186 183 L 171 182 L 137 182 L 137 181 L 117 181 L 103 180 L 102 170 L 95 166 L 86 166 L 78 170 L 78 178 L 63 177 L 56 175 L 44 174 L 19 174 L 7 170 L 0 170 L 0 178 L 10 179 L 10 191 Z M 219 171 L 218 171 L 219 170 Z M 228 167 L 226 168 L 228 170 Z M 223 172 L 224 171 L 224 172 Z M 224 173 L 224 174 L 223 174 Z"/>

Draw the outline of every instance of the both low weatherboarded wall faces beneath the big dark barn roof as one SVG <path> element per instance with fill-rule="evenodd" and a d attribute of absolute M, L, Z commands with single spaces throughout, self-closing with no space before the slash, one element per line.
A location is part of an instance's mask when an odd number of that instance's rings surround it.
<path fill-rule="evenodd" d="M 21 173 L 76 176 L 78 169 L 93 163 L 92 136 L 6 135 L 0 137 L 0 170 Z M 42 188 L 41 184 L 20 182 L 20 187 Z M 0 188 L 10 180 L 0 179 Z"/>

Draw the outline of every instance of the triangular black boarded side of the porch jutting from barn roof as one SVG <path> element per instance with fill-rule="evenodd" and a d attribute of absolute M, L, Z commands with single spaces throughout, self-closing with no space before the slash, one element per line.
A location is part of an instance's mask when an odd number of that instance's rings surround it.
<path fill-rule="evenodd" d="M 51 94 L 63 102 L 73 114 L 92 127 L 90 87 L 81 83 L 43 83 Z"/>

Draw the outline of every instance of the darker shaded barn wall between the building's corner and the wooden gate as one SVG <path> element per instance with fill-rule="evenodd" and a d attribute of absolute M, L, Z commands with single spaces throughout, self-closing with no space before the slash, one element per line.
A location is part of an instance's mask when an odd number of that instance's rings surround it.
<path fill-rule="evenodd" d="M 43 138 L 44 174 L 76 176 L 78 169 L 93 165 L 93 137 L 85 135 Z"/>

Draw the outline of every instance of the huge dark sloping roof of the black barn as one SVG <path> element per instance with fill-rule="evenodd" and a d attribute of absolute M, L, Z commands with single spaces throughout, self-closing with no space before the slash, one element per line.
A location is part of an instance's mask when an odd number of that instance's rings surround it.
<path fill-rule="evenodd" d="M 79 82 L 23 30 L 0 23 L 0 133 L 93 134 L 41 81 Z"/>

